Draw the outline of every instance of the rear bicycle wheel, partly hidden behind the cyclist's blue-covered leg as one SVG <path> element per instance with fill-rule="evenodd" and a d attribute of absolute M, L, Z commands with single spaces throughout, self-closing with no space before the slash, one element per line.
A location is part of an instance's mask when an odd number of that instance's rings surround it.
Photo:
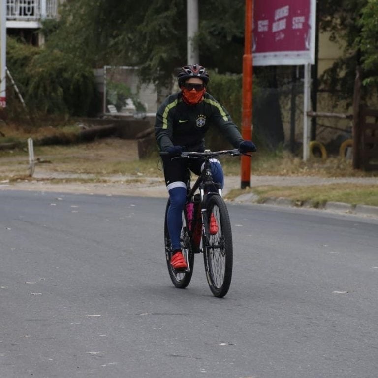
<path fill-rule="evenodd" d="M 187 231 L 185 214 L 183 210 L 183 213 L 182 213 L 183 226 L 180 232 L 180 242 L 181 242 L 181 248 L 182 248 L 184 257 L 185 257 L 185 254 L 188 253 L 188 261 L 189 261 L 190 270 L 189 272 L 180 272 L 172 268 L 172 265 L 171 265 L 172 247 L 171 247 L 171 239 L 169 236 L 168 224 L 167 224 L 167 212 L 168 212 L 169 204 L 170 204 L 170 200 L 168 199 L 167 206 L 165 208 L 165 217 L 164 217 L 165 259 L 167 262 L 169 277 L 171 278 L 172 283 L 177 288 L 185 289 L 189 285 L 191 276 L 193 274 L 194 253 L 191 249 L 191 240 L 190 240 L 189 233 Z"/>

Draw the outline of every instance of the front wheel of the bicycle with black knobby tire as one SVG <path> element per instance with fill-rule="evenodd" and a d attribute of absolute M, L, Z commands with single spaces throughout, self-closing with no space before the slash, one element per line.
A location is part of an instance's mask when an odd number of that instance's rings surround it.
<path fill-rule="evenodd" d="M 210 217 L 214 214 L 217 232 L 210 233 Z M 206 204 L 206 237 L 203 237 L 203 258 L 206 278 L 215 297 L 224 297 L 232 278 L 232 231 L 228 210 L 219 195 L 209 197 Z M 213 230 L 214 232 L 214 230 Z"/>

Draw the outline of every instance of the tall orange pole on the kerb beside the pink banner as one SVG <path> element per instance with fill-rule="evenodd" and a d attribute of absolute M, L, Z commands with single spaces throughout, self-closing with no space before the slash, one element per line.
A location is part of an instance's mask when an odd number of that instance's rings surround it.
<path fill-rule="evenodd" d="M 242 137 L 251 140 L 252 124 L 252 17 L 253 0 L 246 0 L 246 19 L 244 35 L 244 55 L 243 55 L 243 111 L 242 111 Z M 251 158 L 241 157 L 241 188 L 249 187 L 251 182 Z"/>

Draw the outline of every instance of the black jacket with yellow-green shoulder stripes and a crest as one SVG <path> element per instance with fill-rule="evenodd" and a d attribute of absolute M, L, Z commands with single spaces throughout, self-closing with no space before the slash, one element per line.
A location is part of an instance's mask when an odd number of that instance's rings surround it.
<path fill-rule="evenodd" d="M 159 107 L 155 120 L 155 137 L 160 151 L 170 146 L 183 146 L 185 151 L 203 151 L 204 136 L 210 127 L 217 127 L 224 137 L 238 148 L 243 138 L 227 111 L 213 96 L 205 92 L 203 100 L 188 105 L 181 92 L 169 95 Z"/>

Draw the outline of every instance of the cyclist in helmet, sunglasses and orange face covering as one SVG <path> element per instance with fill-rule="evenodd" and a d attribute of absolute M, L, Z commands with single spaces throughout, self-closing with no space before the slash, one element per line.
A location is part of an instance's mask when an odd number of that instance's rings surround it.
<path fill-rule="evenodd" d="M 155 136 L 162 157 L 165 184 L 170 198 L 167 213 L 168 232 L 172 244 L 171 265 L 185 270 L 187 263 L 181 251 L 180 232 L 182 211 L 186 202 L 187 167 L 196 175 L 203 169 L 203 161 L 196 158 L 172 159 L 183 151 L 203 152 L 204 136 L 210 127 L 217 129 L 242 153 L 256 151 L 256 146 L 244 140 L 225 108 L 206 92 L 209 73 L 198 64 L 186 65 L 178 73 L 180 92 L 169 95 L 159 107 L 155 120 Z M 223 188 L 223 171 L 217 159 L 212 161 L 214 182 Z"/>

